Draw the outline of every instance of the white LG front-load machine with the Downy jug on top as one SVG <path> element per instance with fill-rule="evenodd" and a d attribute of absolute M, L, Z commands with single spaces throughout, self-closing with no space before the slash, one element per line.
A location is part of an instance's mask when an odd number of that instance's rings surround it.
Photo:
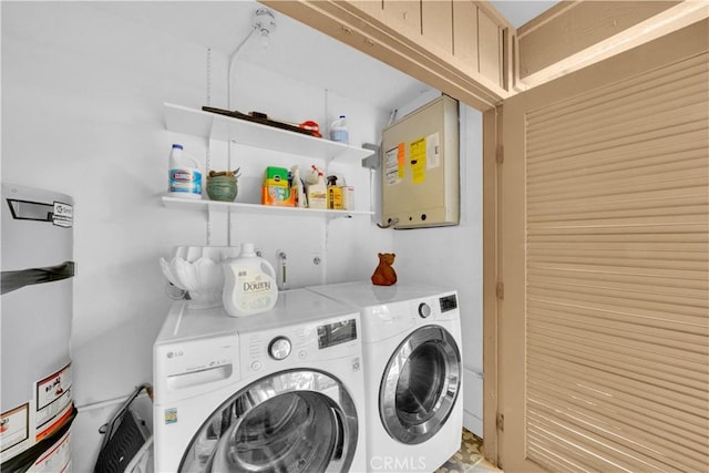
<path fill-rule="evenodd" d="M 356 308 L 305 289 L 244 318 L 175 302 L 155 341 L 157 472 L 364 472 Z"/>

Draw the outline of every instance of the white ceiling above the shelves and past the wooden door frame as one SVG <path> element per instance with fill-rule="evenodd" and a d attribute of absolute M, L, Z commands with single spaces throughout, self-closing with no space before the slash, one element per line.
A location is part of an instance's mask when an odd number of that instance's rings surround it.
<path fill-rule="evenodd" d="M 496 0 L 492 3 L 513 25 L 518 27 L 556 1 Z M 254 0 L 116 1 L 91 4 L 106 13 L 147 24 L 225 54 L 230 54 L 249 34 L 254 12 L 263 8 Z M 268 48 L 264 49 L 254 35 L 240 50 L 237 61 L 249 61 L 384 110 L 399 107 L 430 91 L 428 85 L 376 59 L 286 16 L 278 12 L 274 14 L 277 28 Z"/>

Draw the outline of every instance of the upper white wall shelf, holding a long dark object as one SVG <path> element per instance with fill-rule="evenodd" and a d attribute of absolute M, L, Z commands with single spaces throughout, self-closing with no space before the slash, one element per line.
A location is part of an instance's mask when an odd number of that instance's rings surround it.
<path fill-rule="evenodd" d="M 289 132 L 260 123 L 164 103 L 165 127 L 210 140 L 235 142 L 261 150 L 277 151 L 308 160 L 337 161 L 361 164 L 371 156 L 371 150 Z"/>

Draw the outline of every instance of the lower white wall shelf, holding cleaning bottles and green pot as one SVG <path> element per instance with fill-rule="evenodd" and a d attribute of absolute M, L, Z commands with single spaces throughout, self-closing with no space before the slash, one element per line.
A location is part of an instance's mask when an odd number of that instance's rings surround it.
<path fill-rule="evenodd" d="M 274 205 L 243 204 L 238 202 L 218 202 L 163 196 L 163 205 L 181 210 L 209 209 L 213 212 L 239 212 L 264 215 L 326 215 L 328 217 L 350 218 L 358 215 L 373 215 L 371 210 L 329 210 L 319 208 L 278 207 Z"/>

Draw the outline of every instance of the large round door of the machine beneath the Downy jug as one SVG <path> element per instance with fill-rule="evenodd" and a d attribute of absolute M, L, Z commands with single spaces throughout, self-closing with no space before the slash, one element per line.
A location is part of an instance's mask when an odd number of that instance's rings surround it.
<path fill-rule="evenodd" d="M 284 371 L 234 394 L 199 428 L 181 472 L 346 472 L 357 446 L 347 390 L 318 371 Z"/>

